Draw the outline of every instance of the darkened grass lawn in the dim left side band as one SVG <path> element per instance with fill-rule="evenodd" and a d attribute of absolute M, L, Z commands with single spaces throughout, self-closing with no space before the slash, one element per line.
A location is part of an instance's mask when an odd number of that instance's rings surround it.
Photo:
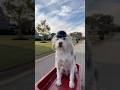
<path fill-rule="evenodd" d="M 33 46 L 30 40 L 0 39 L 0 71 L 33 62 Z"/>

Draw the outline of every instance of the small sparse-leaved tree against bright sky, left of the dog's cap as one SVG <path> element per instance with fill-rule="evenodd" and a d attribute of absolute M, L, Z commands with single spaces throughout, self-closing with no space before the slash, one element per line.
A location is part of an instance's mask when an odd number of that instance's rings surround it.
<path fill-rule="evenodd" d="M 43 41 L 45 40 L 45 38 L 48 36 L 49 31 L 50 31 L 50 27 L 49 25 L 46 23 L 46 20 L 41 21 L 40 24 L 37 25 L 36 30 L 39 34 L 41 34 L 43 36 Z"/>

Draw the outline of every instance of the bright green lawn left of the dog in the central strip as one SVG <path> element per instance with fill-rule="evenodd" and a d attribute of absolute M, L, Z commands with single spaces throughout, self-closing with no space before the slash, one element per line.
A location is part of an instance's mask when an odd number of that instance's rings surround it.
<path fill-rule="evenodd" d="M 41 43 L 40 41 L 35 42 L 35 56 L 45 56 L 50 53 L 53 53 L 54 50 L 52 49 L 51 42 Z"/>

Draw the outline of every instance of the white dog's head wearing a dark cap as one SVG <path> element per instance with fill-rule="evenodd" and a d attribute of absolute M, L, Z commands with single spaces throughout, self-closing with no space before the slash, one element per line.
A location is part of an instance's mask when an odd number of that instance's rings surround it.
<path fill-rule="evenodd" d="M 52 39 L 53 47 L 57 50 L 65 50 L 70 45 L 70 40 L 65 31 L 59 31 Z"/>

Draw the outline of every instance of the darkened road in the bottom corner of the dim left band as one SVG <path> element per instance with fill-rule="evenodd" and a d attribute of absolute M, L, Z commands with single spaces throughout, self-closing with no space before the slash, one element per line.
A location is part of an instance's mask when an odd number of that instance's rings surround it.
<path fill-rule="evenodd" d="M 0 81 L 0 90 L 34 90 L 34 78 L 34 69 L 27 70 Z"/>

